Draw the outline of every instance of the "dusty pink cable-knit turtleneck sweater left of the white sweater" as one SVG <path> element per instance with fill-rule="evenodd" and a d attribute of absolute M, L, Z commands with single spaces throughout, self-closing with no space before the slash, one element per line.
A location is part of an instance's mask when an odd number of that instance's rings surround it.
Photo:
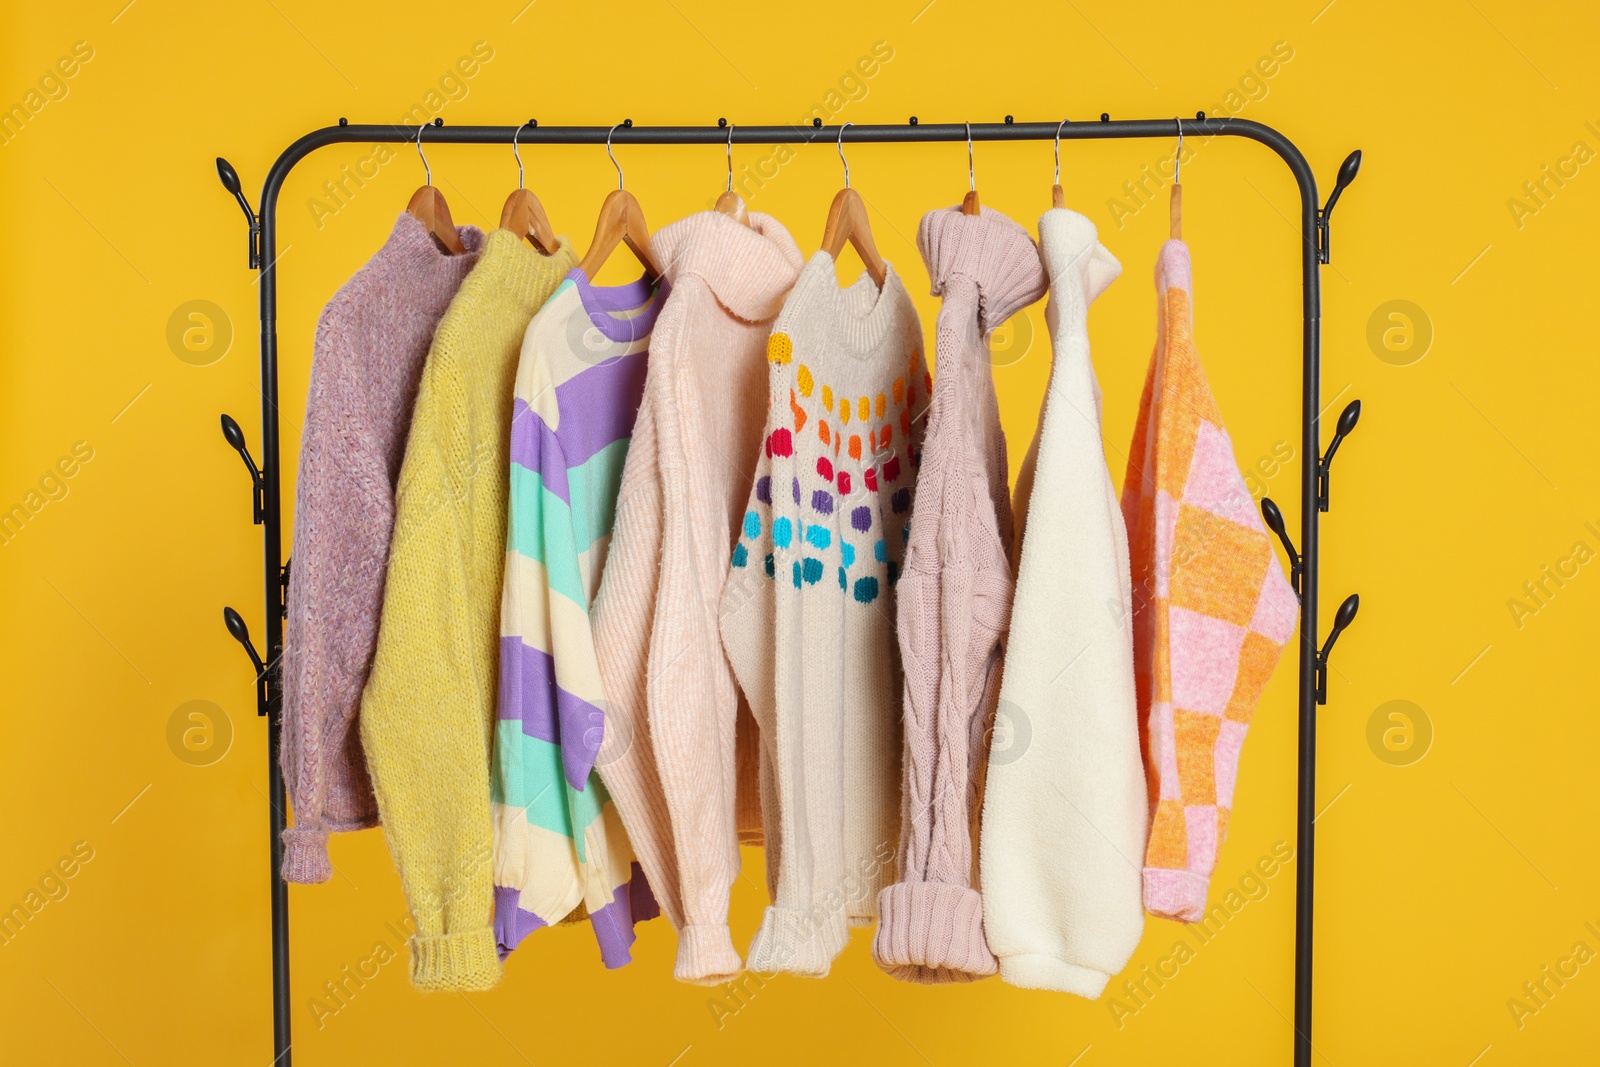
<path fill-rule="evenodd" d="M 901 881 L 878 894 L 872 955 L 894 977 L 995 973 L 973 888 L 973 819 L 1011 614 L 1011 501 L 989 331 L 1045 294 L 1027 230 L 982 210 L 922 218 L 933 294 L 933 406 L 912 509 L 898 629 L 906 670 Z"/>

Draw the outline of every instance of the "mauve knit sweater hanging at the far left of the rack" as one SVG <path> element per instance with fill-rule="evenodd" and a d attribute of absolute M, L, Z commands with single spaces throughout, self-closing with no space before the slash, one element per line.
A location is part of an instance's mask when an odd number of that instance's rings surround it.
<path fill-rule="evenodd" d="M 418 379 L 434 326 L 483 243 L 477 227 L 458 234 L 467 254 L 446 256 L 402 214 L 317 323 L 283 627 L 280 758 L 294 808 L 283 830 L 286 881 L 331 877 L 330 830 L 378 825 L 357 709 L 378 641 Z"/>

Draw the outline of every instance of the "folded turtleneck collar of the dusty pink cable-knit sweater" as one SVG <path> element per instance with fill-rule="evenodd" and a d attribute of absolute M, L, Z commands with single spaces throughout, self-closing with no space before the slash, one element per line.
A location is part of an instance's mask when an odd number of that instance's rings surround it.
<path fill-rule="evenodd" d="M 992 208 L 930 211 L 917 229 L 917 250 L 934 296 L 949 302 L 963 288 L 976 290 L 982 333 L 1045 294 L 1045 270 L 1027 230 Z"/>

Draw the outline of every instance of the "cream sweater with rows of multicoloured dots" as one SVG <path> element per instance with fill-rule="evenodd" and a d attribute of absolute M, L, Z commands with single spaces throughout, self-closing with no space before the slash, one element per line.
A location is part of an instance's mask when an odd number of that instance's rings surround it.
<path fill-rule="evenodd" d="M 773 904 L 747 965 L 822 976 L 894 881 L 894 584 L 931 382 L 899 275 L 840 288 L 826 253 L 800 272 L 766 358 L 766 435 L 720 621 L 765 749 Z"/>

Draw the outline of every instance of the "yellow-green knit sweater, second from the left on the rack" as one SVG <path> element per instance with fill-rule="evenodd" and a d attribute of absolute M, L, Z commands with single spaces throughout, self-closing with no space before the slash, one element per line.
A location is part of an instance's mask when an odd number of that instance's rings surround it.
<path fill-rule="evenodd" d="M 499 981 L 490 737 L 512 379 L 528 320 L 578 266 L 494 230 L 434 334 L 395 491 L 362 744 L 416 934 L 411 982 Z"/>

